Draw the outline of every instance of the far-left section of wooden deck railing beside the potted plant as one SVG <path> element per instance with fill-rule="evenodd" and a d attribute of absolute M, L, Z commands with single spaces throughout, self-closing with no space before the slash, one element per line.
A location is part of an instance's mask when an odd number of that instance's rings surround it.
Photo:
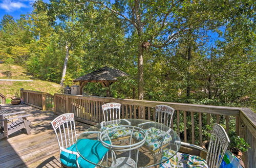
<path fill-rule="evenodd" d="M 20 97 L 30 106 L 41 110 L 53 110 L 54 96 L 49 93 L 20 89 Z"/>

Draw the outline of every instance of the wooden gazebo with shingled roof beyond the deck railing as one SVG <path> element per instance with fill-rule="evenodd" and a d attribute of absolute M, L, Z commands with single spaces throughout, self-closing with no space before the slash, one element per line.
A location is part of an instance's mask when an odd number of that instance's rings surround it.
<path fill-rule="evenodd" d="M 74 82 L 79 82 L 80 94 L 82 94 L 83 87 L 88 82 L 100 82 L 104 87 L 108 87 L 106 90 L 106 96 L 110 97 L 110 86 L 112 83 L 117 81 L 117 77 L 128 76 L 125 72 L 114 69 L 103 67 L 86 75 L 80 76 L 74 79 Z"/>

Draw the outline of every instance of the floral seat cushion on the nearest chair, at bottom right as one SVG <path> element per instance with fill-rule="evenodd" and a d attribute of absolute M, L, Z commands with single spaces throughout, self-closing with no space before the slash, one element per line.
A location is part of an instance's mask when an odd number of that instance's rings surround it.
<path fill-rule="evenodd" d="M 166 160 L 174 155 L 174 151 L 170 149 L 163 149 L 162 160 Z M 178 152 L 174 157 L 160 164 L 160 167 L 202 167 L 208 168 L 208 165 L 204 159 L 199 156 L 193 156 L 185 153 Z"/>

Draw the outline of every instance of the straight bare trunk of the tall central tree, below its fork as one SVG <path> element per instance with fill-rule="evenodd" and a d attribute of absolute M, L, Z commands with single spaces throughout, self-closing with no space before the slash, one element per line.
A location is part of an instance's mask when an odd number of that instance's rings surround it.
<path fill-rule="evenodd" d="M 144 79 L 143 79 L 143 48 L 142 45 L 139 44 L 139 53 L 138 53 L 138 77 L 139 77 L 139 83 L 138 83 L 138 97 L 139 100 L 143 100 L 144 98 Z"/>

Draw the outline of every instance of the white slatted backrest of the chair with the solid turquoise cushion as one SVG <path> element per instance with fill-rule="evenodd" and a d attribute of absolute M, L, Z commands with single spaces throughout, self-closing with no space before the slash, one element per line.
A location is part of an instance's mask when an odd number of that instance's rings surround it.
<path fill-rule="evenodd" d="M 73 113 L 60 115 L 51 124 L 57 136 L 59 147 L 69 148 L 76 143 L 76 128 Z"/>

